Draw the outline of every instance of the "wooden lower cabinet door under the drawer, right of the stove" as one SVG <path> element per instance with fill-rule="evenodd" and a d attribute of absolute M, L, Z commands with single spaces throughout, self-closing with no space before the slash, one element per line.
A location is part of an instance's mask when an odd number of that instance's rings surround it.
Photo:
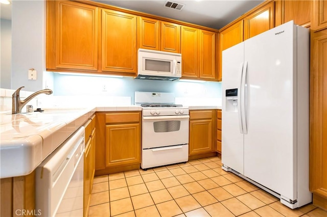
<path fill-rule="evenodd" d="M 213 151 L 212 127 L 211 119 L 190 121 L 189 155 Z"/>

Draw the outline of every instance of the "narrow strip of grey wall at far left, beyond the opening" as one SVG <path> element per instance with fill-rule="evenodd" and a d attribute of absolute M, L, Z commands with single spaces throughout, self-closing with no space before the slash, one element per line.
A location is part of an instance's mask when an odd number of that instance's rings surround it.
<path fill-rule="evenodd" d="M 11 20 L 1 19 L 0 87 L 11 88 Z"/>

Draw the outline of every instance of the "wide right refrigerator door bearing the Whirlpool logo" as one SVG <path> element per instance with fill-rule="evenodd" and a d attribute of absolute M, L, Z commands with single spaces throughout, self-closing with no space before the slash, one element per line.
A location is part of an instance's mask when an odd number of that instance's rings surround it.
<path fill-rule="evenodd" d="M 291 200 L 297 198 L 295 35 L 289 22 L 245 41 L 244 175 Z"/>

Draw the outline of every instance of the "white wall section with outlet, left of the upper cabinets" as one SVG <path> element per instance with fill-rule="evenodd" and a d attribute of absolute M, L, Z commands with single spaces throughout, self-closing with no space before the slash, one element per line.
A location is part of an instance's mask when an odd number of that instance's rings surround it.
<path fill-rule="evenodd" d="M 25 91 L 45 88 L 46 2 L 12 1 L 12 72 L 11 89 L 25 86 Z M 37 71 L 37 79 L 28 79 L 28 70 Z"/>

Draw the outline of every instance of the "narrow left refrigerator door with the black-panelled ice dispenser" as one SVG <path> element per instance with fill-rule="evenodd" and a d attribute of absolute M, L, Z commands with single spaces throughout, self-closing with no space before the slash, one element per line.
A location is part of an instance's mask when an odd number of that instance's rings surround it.
<path fill-rule="evenodd" d="M 222 163 L 243 174 L 244 153 L 240 111 L 240 86 L 244 61 L 244 43 L 223 51 L 222 57 Z M 226 90 L 239 89 L 238 97 L 226 97 Z M 240 129 L 241 128 L 241 129 Z"/>

